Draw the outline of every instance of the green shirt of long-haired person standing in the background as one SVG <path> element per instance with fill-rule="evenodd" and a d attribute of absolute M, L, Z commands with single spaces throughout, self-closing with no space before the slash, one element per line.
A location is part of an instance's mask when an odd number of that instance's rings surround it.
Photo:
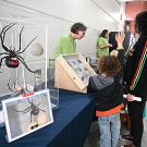
<path fill-rule="evenodd" d="M 108 45 L 108 40 L 103 37 L 99 37 L 97 40 L 97 56 L 98 57 L 103 57 L 103 56 L 109 56 L 109 47 L 100 49 L 99 46 Z"/>

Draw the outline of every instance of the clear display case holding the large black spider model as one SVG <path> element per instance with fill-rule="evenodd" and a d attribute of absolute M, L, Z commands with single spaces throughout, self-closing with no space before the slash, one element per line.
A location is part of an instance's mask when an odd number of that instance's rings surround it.
<path fill-rule="evenodd" d="M 0 24 L 0 97 L 47 89 L 48 26 L 9 19 Z"/>

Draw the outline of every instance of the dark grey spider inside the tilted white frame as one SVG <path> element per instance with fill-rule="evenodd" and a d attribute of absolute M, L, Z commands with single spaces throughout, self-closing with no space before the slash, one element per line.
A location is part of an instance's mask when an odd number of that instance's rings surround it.
<path fill-rule="evenodd" d="M 29 106 L 28 108 L 26 108 L 26 109 L 24 109 L 24 110 L 16 110 L 16 109 L 13 108 L 13 110 L 14 110 L 15 112 L 22 112 L 23 114 L 25 114 L 25 113 L 27 113 L 27 112 L 30 111 L 30 122 L 32 122 L 32 117 L 33 117 L 33 115 L 38 115 L 40 111 L 46 112 L 45 110 L 42 110 L 42 109 L 40 109 L 40 108 L 38 107 L 38 106 L 40 105 L 40 102 L 39 102 L 38 105 L 35 105 L 35 103 L 33 102 L 33 99 L 32 99 L 32 101 L 30 101 L 28 98 L 27 98 L 27 101 L 30 103 L 30 106 Z"/>

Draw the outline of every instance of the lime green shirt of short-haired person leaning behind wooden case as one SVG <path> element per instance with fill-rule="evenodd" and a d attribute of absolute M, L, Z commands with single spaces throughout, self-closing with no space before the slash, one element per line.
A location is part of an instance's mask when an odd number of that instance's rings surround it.
<path fill-rule="evenodd" d="M 76 42 L 72 35 L 64 35 L 60 38 L 57 45 L 57 51 L 53 53 L 53 58 L 60 54 L 75 53 Z"/>

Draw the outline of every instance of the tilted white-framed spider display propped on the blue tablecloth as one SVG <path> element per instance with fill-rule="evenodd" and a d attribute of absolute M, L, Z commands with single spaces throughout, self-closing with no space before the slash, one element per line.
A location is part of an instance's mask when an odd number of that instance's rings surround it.
<path fill-rule="evenodd" d="M 19 139 L 53 122 L 48 90 L 2 101 L 8 142 Z"/>

